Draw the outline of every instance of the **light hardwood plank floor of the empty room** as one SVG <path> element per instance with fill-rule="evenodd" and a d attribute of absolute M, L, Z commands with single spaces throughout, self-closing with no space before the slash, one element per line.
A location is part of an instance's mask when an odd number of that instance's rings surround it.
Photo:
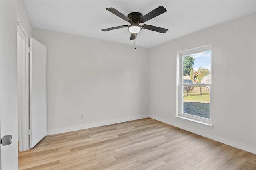
<path fill-rule="evenodd" d="M 19 169 L 256 170 L 256 155 L 146 118 L 46 136 Z"/>

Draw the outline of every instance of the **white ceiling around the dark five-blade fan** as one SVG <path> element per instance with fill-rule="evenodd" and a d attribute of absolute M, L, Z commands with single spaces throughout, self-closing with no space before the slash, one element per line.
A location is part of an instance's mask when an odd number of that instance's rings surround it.
<path fill-rule="evenodd" d="M 129 25 L 106 8 L 127 16 L 130 12 L 145 15 L 164 6 L 167 12 L 143 24 L 168 31 L 142 29 L 137 34 L 136 46 L 148 48 L 256 12 L 256 0 L 24 0 L 24 4 L 32 27 L 129 45 L 134 41 L 127 28 L 101 31 Z"/>

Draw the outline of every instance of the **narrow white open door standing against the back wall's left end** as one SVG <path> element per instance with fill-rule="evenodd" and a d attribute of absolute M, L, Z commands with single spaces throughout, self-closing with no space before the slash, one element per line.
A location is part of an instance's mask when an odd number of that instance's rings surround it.
<path fill-rule="evenodd" d="M 46 46 L 30 38 L 30 147 L 47 132 Z"/>

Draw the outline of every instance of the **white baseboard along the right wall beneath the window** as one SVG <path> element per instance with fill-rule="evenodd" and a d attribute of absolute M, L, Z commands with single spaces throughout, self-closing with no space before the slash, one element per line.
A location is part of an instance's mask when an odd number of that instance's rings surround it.
<path fill-rule="evenodd" d="M 168 121 L 166 119 L 163 119 L 162 117 L 158 117 L 158 116 L 155 116 L 155 115 L 149 115 L 149 117 L 152 118 L 152 119 L 156 119 L 158 121 L 161 121 L 163 123 L 178 127 L 180 129 L 184 129 L 186 131 L 196 133 L 196 134 L 201 135 L 203 137 L 207 137 L 207 138 L 212 139 L 214 141 L 218 141 L 218 142 L 224 143 L 226 145 L 230 145 L 232 147 L 236 147 L 238 149 L 242 149 L 242 150 L 245 150 L 247 152 L 251 152 L 253 154 L 256 154 L 256 147 L 244 145 L 242 143 L 238 143 L 236 141 L 233 141 L 233 140 L 230 140 L 230 139 L 227 139 L 227 138 L 224 138 L 224 137 L 220 137 L 220 136 L 217 136 L 217 135 L 212 135 L 210 133 L 199 131 L 198 129 L 194 129 L 194 128 L 188 127 L 186 125 L 182 125 L 180 123 L 174 123 L 174 122 Z"/>

